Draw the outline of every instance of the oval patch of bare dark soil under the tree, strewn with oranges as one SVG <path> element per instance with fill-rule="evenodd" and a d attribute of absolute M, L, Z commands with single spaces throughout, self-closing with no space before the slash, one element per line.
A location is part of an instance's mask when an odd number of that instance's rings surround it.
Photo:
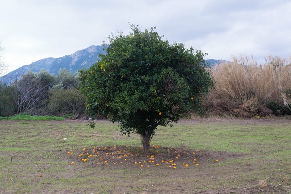
<path fill-rule="evenodd" d="M 141 147 L 130 146 L 95 147 L 91 149 L 86 148 L 86 150 L 75 150 L 75 152 L 76 153 L 69 158 L 78 162 L 82 162 L 82 159 L 87 159 L 87 162 L 99 162 L 100 164 L 106 165 L 121 162 L 126 164 L 141 162 L 140 165 L 145 164 L 146 166 L 153 166 L 156 164 L 167 164 L 166 167 L 174 167 L 172 165 L 174 163 L 176 163 L 177 167 L 179 165 L 183 166 L 183 163 L 185 165 L 217 163 L 219 162 L 218 159 L 224 160 L 227 158 L 238 158 L 244 156 L 244 154 L 239 153 L 201 151 L 181 148 L 176 149 L 172 147 L 161 148 L 160 146 L 155 145 L 152 145 L 152 149 L 147 155 L 142 155 Z"/>

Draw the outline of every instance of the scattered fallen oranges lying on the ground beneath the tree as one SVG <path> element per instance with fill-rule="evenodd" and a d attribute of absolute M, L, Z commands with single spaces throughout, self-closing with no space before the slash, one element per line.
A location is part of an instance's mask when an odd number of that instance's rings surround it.
<path fill-rule="evenodd" d="M 97 165 L 116 165 L 116 164 L 127 164 L 136 165 L 140 168 L 143 167 L 159 167 L 163 166 L 166 168 L 188 168 L 190 166 L 199 166 L 198 159 L 202 156 L 202 153 L 197 149 L 195 152 L 181 152 L 178 153 L 176 150 L 168 149 L 167 154 L 160 154 L 157 149 L 160 146 L 152 145 L 152 155 L 141 155 L 140 153 L 131 153 L 126 147 L 93 147 L 91 149 L 83 148 L 81 153 L 78 154 L 78 158 L 75 157 L 75 161 L 80 162 L 94 162 Z M 70 155 L 74 155 L 73 150 L 68 152 Z M 185 162 L 186 160 L 186 162 Z M 184 162 L 183 162 L 184 161 Z M 218 162 L 216 159 L 215 162 Z M 71 162 L 74 165 L 75 162 Z"/>

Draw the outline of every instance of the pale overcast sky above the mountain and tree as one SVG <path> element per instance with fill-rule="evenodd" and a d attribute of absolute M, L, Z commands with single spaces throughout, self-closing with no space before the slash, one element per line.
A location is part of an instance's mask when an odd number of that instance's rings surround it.
<path fill-rule="evenodd" d="M 9 71 L 101 45 L 128 22 L 207 59 L 291 56 L 291 0 L 0 0 L 0 41 Z"/>

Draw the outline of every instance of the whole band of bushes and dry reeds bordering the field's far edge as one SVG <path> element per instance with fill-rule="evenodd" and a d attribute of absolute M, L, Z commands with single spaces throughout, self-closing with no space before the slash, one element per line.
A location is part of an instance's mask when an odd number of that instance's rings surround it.
<path fill-rule="evenodd" d="M 233 58 L 210 69 L 215 87 L 203 101 L 208 115 L 258 117 L 291 115 L 291 61 L 269 57 L 258 65 L 248 57 Z M 0 116 L 84 114 L 86 97 L 78 73 L 60 69 L 29 72 L 0 84 Z"/>

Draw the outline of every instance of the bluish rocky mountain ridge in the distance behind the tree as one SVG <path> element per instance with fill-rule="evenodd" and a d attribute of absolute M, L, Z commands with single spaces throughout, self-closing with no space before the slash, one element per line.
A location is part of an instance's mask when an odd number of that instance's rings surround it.
<path fill-rule="evenodd" d="M 86 49 L 78 50 L 71 55 L 66 55 L 60 58 L 45 58 L 31 63 L 30 65 L 22 66 L 2 77 L 0 81 L 2 83 L 8 83 L 10 80 L 21 77 L 21 75 L 27 73 L 28 71 L 40 72 L 45 70 L 50 74 L 56 75 L 59 69 L 66 68 L 72 73 L 76 73 L 82 68 L 89 68 L 91 65 L 95 64 L 99 59 L 98 54 L 105 54 L 103 46 L 92 45 Z M 216 63 L 226 62 L 225 60 L 207 59 L 205 60 L 210 66 L 214 66 Z"/>

